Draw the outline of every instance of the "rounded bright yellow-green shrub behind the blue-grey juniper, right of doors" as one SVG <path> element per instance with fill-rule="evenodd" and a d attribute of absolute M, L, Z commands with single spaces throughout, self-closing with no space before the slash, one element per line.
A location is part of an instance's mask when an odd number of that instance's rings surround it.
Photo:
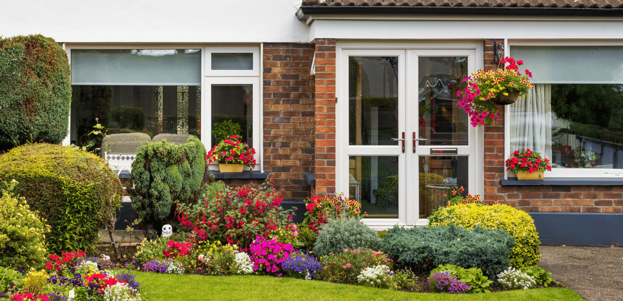
<path fill-rule="evenodd" d="M 502 204 L 475 203 L 443 208 L 429 217 L 429 226 L 463 226 L 468 229 L 480 224 L 488 229 L 506 229 L 515 238 L 516 246 L 510 255 L 511 266 L 535 266 L 541 257 L 539 234 L 535 221 L 525 211 Z"/>

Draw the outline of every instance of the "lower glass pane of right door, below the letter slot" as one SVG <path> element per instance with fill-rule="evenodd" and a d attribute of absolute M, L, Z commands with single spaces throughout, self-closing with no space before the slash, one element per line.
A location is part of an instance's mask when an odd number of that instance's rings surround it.
<path fill-rule="evenodd" d="M 449 195 L 455 187 L 463 186 L 468 192 L 468 157 L 465 156 L 422 156 L 419 159 L 419 194 L 421 218 L 427 218 L 445 206 Z"/>

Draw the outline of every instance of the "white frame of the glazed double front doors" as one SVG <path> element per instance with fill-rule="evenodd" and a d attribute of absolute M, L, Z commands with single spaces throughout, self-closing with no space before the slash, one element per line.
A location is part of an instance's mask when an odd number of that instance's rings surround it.
<path fill-rule="evenodd" d="M 335 188 L 336 193 L 339 192 L 348 192 L 348 178 L 341 177 L 338 178 L 338 175 L 347 175 L 348 174 L 348 159 L 350 155 L 376 155 L 377 153 L 371 150 L 364 150 L 361 146 L 349 146 L 348 145 L 348 120 L 346 118 L 341 118 L 340 112 L 348 111 L 348 81 L 346 83 L 341 83 L 341 81 L 348 76 L 348 62 L 343 62 L 344 55 L 348 55 L 348 53 L 356 53 L 361 56 L 371 55 L 374 56 L 374 53 L 378 50 L 387 50 L 384 53 L 392 53 L 396 52 L 394 55 L 402 55 L 403 58 L 406 58 L 406 62 L 402 63 L 402 67 L 415 69 L 415 73 L 404 75 L 399 73 L 399 82 L 403 83 L 402 86 L 399 86 L 399 98 L 402 96 L 406 98 L 406 102 L 412 101 L 411 98 L 417 98 L 417 91 L 413 91 L 414 89 L 409 83 L 414 81 L 413 76 L 417 76 L 417 68 L 414 66 L 417 65 L 417 54 L 426 54 L 431 56 L 437 55 L 446 55 L 446 53 L 452 53 L 453 50 L 457 50 L 457 53 L 462 53 L 462 50 L 473 51 L 473 64 L 475 64 L 475 70 L 478 70 L 483 67 L 482 57 L 483 57 L 483 45 L 481 41 L 478 42 L 464 42 L 464 41 L 434 41 L 434 42 L 379 42 L 379 43 L 371 43 L 371 42 L 340 42 L 336 44 L 336 96 L 338 97 L 338 103 L 336 103 L 336 181 Z M 416 51 L 414 51 L 416 50 Z M 435 52 L 435 51 L 439 52 Z M 408 62 L 407 62 L 408 61 Z M 406 70 L 405 68 L 405 70 Z M 474 70 L 474 72 L 475 72 Z M 346 76 L 346 77 L 345 77 Z M 404 76 L 407 76 L 406 78 Z M 417 77 L 416 77 L 417 78 Z M 415 80 L 417 81 L 417 80 Z M 406 83 L 406 85 L 404 85 Z M 414 94 L 415 93 L 415 94 Z M 411 97 L 411 98 L 409 98 Z M 406 123 L 412 123 L 414 121 L 406 120 Z M 469 143 L 474 143 L 473 147 L 475 149 L 475 153 L 470 155 L 470 162 L 475 163 L 473 166 L 473 179 L 470 179 L 470 193 L 472 195 L 482 195 L 484 190 L 484 170 L 483 164 L 479 162 L 483 162 L 483 137 L 484 131 L 483 127 L 478 127 L 475 129 L 474 134 L 470 135 Z M 407 150 L 411 149 L 409 147 L 409 135 L 407 135 Z M 430 148 L 430 147 L 429 147 Z M 457 147 L 463 149 L 464 147 Z M 358 149 L 361 149 L 359 151 Z M 426 149 L 426 147 L 419 147 L 417 150 L 417 154 L 421 154 L 421 151 Z M 368 154 L 369 153 L 369 154 Z M 404 166 L 407 166 L 409 162 L 405 162 Z M 399 170 L 399 178 L 405 178 L 406 173 L 409 172 L 407 170 L 401 169 Z M 411 170 L 411 172 L 413 172 Z M 412 176 L 413 177 L 413 176 Z M 401 193 L 401 192 L 399 192 Z M 416 193 L 416 188 L 407 187 L 404 193 Z M 399 199 L 406 200 L 406 198 L 401 197 L 399 195 Z M 364 219 L 364 223 L 368 225 L 370 228 L 373 228 L 377 231 L 391 228 L 393 225 L 399 226 L 425 226 L 428 223 L 427 218 L 419 218 L 419 214 L 414 212 L 413 206 L 416 205 L 413 202 L 404 201 L 399 202 L 398 204 L 398 218 L 366 218 Z M 417 205 L 416 205 L 417 206 Z"/>

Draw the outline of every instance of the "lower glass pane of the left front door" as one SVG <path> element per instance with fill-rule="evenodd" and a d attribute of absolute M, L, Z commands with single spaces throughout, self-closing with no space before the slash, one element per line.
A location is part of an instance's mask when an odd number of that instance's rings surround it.
<path fill-rule="evenodd" d="M 359 200 L 368 218 L 398 217 L 398 157 L 351 156 L 349 197 Z"/>

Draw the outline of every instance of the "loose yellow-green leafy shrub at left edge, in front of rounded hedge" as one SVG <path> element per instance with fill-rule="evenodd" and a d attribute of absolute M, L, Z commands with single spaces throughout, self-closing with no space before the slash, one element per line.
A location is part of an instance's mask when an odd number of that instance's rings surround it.
<path fill-rule="evenodd" d="M 16 183 L 12 183 L 15 185 Z M 11 185 L 11 186 L 12 186 Z M 11 187 L 12 188 L 12 187 Z M 0 272 L 9 273 L 2 267 L 37 267 L 45 261 L 45 233 L 50 226 L 44 225 L 30 210 L 26 199 L 16 198 L 6 190 L 0 197 Z M 14 272 L 13 272 L 14 273 Z M 11 273 L 9 273 L 11 274 Z M 0 273 L 0 276 L 2 274 Z M 6 292 L 8 282 L 0 277 L 0 292 Z"/>

